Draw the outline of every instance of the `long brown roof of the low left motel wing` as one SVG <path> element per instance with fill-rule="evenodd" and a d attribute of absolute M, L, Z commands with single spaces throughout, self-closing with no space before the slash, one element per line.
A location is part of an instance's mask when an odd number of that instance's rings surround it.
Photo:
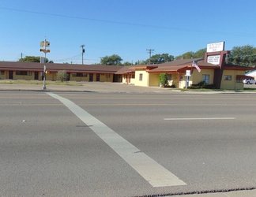
<path fill-rule="evenodd" d="M 47 71 L 58 72 L 66 70 L 66 72 L 88 72 L 88 73 L 115 73 L 122 66 L 115 65 L 73 65 L 73 64 L 46 64 Z M 0 61 L 0 69 L 4 70 L 23 70 L 23 71 L 41 71 L 43 72 L 43 64 L 37 62 L 17 62 L 17 61 Z"/>

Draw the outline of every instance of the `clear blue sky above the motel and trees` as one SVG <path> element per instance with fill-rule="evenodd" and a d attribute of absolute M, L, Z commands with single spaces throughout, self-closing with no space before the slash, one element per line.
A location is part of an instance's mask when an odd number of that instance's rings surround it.
<path fill-rule="evenodd" d="M 255 0 L 25 0 L 0 3 L 0 61 L 44 56 L 40 41 L 51 43 L 55 63 L 100 62 L 118 54 L 135 62 L 153 54 L 196 52 L 207 43 L 225 50 L 256 42 Z"/>

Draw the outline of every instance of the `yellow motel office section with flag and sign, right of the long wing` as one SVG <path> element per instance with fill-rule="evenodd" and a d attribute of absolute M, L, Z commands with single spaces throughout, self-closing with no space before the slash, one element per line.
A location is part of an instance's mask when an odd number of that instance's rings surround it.
<path fill-rule="evenodd" d="M 224 42 L 209 43 L 205 58 L 176 60 L 160 65 L 125 66 L 116 73 L 122 74 L 122 83 L 137 86 L 160 86 L 160 73 L 167 73 L 170 87 L 186 88 L 205 81 L 209 87 L 216 89 L 243 90 L 243 80 L 250 78 L 245 76 L 245 72 L 254 68 L 226 64 L 229 53 L 224 50 Z M 193 66 L 194 62 L 199 69 Z"/>

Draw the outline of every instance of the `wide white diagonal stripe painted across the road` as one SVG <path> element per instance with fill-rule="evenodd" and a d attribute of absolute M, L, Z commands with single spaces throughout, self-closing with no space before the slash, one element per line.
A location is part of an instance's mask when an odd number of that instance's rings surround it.
<path fill-rule="evenodd" d="M 90 127 L 92 131 L 100 136 L 109 147 L 133 167 L 141 177 L 147 180 L 152 187 L 186 185 L 183 180 L 180 180 L 173 173 L 168 171 L 168 169 L 165 169 L 152 158 L 149 158 L 148 155 L 141 152 L 137 147 L 134 147 L 133 144 L 122 138 L 122 136 L 119 136 L 119 134 L 114 132 L 111 128 L 108 128 L 107 125 L 104 125 L 104 123 L 96 119 L 96 117 L 93 117 L 91 114 L 81 109 L 80 106 L 77 106 L 69 99 L 62 98 L 51 92 L 47 92 L 47 94 L 62 102 L 70 111 L 79 117 L 81 121 L 85 122 L 86 125 L 92 125 Z"/>

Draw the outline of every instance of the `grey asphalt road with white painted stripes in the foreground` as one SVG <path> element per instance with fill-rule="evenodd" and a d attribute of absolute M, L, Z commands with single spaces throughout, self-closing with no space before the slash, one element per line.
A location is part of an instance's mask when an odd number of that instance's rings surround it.
<path fill-rule="evenodd" d="M 0 196 L 255 188 L 255 101 L 247 93 L 2 91 Z"/>

